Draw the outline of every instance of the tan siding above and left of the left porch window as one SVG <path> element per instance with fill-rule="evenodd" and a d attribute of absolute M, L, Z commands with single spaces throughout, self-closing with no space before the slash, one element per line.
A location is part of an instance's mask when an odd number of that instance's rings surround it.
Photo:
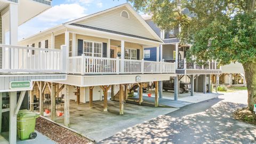
<path fill-rule="evenodd" d="M 78 39 L 83 39 L 84 41 L 108 43 L 108 39 L 107 38 L 100 38 L 100 37 L 93 37 L 93 36 L 85 36 L 85 35 L 76 34 L 76 50 L 75 50 L 75 55 L 77 55 Z"/>

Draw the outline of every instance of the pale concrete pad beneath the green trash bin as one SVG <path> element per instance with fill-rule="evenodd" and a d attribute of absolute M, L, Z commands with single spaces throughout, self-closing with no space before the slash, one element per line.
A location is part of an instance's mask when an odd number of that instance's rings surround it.
<path fill-rule="evenodd" d="M 28 139 L 28 140 L 20 140 L 17 137 L 17 144 L 55 144 L 54 141 L 47 138 L 45 135 L 35 131 L 37 133 L 37 137 L 35 139 Z M 0 144 L 8 144 L 9 132 L 2 132 L 0 134 Z"/>

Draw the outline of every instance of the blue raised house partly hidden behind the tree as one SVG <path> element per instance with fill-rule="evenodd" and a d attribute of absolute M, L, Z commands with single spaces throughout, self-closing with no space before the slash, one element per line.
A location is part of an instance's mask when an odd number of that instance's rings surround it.
<path fill-rule="evenodd" d="M 183 10 L 183 12 L 187 13 L 191 17 L 193 16 L 193 14 L 189 14 L 187 9 Z M 193 90 L 204 93 L 207 91 L 207 89 L 210 90 L 211 75 L 221 74 L 221 69 L 217 66 L 217 63 L 214 61 L 209 61 L 207 65 L 199 66 L 196 63 L 186 62 L 186 52 L 190 49 L 191 45 L 180 44 L 180 39 L 177 38 L 177 34 L 179 34 L 179 31 L 181 31 L 181 28 L 177 26 L 171 30 L 161 30 L 157 27 L 149 15 L 142 15 L 142 17 L 164 41 L 164 44 L 160 45 L 160 59 L 162 61 L 175 62 L 175 73 L 177 74 L 177 79 L 179 79 L 179 81 L 191 83 L 191 95 L 193 95 Z M 157 57 L 157 51 L 157 47 L 145 49 L 144 56 L 147 56 L 146 58 L 144 57 L 145 60 L 148 59 L 154 61 Z M 193 78 L 194 81 L 190 81 L 191 78 Z M 177 83 L 177 85 L 178 84 L 179 83 Z M 208 86 L 206 87 L 206 85 Z M 159 89 L 162 89 L 162 87 Z M 179 92 L 177 92 L 177 94 L 178 93 Z"/>

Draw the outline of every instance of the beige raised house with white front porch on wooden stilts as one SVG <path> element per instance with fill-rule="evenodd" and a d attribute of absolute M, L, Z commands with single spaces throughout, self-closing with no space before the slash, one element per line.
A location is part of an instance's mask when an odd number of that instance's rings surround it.
<path fill-rule="evenodd" d="M 68 74 L 67 80 L 52 81 L 59 89 L 57 95 L 67 97 L 65 113 L 69 113 L 69 99 L 78 102 L 89 101 L 91 107 L 92 101 L 102 100 L 102 92 L 103 110 L 107 111 L 107 91 L 111 87 L 112 96 L 118 94 L 120 114 L 123 114 L 124 95 L 125 99 L 127 98 L 127 84 L 137 83 L 141 87 L 142 82 L 158 84 L 159 81 L 176 76 L 174 63 L 160 62 L 159 51 L 156 52 L 158 57 L 154 61 L 143 60 L 144 50 L 150 47 L 159 50 L 162 43 L 162 39 L 129 3 L 63 23 L 19 42 L 23 46 L 33 45 L 41 47 L 42 50 L 66 52 L 62 60 L 66 62 L 66 69 L 63 69 L 66 71 L 63 73 Z M 55 56 L 59 58 L 58 55 Z M 35 54 L 34 57 L 47 59 L 42 54 Z M 66 91 L 61 91 L 64 85 Z M 33 90 L 37 97 L 40 97 L 38 91 L 42 92 L 41 88 L 38 90 L 35 87 Z M 45 89 L 51 87 L 46 86 Z M 51 90 L 47 91 L 52 94 Z M 141 103 L 142 89 L 139 91 L 139 98 Z M 43 111 L 42 106 L 41 115 Z M 64 116 L 64 124 L 68 126 L 69 115 Z M 52 119 L 54 120 L 54 117 Z"/>

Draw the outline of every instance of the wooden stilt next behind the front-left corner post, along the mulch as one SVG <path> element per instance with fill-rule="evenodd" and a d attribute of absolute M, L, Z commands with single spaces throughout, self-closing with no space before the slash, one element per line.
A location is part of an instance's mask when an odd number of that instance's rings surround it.
<path fill-rule="evenodd" d="M 52 121 L 55 121 L 56 120 L 56 103 L 55 103 L 55 87 L 56 85 L 51 83 L 51 119 Z"/>

